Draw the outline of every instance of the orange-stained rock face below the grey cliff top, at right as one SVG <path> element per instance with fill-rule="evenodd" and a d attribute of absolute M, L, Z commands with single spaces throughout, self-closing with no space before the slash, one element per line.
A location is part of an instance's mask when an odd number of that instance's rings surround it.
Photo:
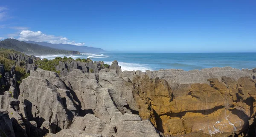
<path fill-rule="evenodd" d="M 255 117 L 256 80 L 250 77 L 209 78 L 209 83 L 179 84 L 174 90 L 148 75 L 134 76 L 132 82 L 139 115 L 165 135 L 230 135 L 243 132 Z"/>

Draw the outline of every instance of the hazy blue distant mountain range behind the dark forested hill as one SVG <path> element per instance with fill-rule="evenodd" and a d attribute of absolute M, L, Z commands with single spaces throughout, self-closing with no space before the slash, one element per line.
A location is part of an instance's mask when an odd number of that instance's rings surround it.
<path fill-rule="evenodd" d="M 77 50 L 81 53 L 104 53 L 107 52 L 105 50 L 102 50 L 101 48 L 94 48 L 94 47 L 87 47 L 87 46 L 76 46 L 76 45 L 70 45 L 70 44 L 51 44 L 47 42 L 34 42 L 34 41 L 25 41 L 27 43 L 33 43 L 38 45 L 47 46 L 50 48 L 58 48 L 62 50 Z"/>

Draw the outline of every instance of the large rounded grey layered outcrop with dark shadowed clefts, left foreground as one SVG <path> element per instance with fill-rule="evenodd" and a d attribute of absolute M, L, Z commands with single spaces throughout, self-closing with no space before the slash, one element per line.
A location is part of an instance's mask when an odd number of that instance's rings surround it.
<path fill-rule="evenodd" d="M 58 75 L 50 71 L 31 71 L 20 85 L 19 101 L 26 106 L 27 119 L 35 121 L 44 132 L 66 129 L 78 115 L 70 91 Z"/>

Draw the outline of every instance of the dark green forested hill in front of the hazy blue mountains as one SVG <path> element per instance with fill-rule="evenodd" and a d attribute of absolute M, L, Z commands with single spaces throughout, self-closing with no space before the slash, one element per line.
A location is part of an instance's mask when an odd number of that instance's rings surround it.
<path fill-rule="evenodd" d="M 60 50 L 56 48 L 50 48 L 38 44 L 21 42 L 17 39 L 5 39 L 0 41 L 0 48 L 13 49 L 20 51 L 26 54 L 44 54 L 44 55 L 53 55 L 53 54 L 80 54 L 79 51 L 71 50 Z"/>

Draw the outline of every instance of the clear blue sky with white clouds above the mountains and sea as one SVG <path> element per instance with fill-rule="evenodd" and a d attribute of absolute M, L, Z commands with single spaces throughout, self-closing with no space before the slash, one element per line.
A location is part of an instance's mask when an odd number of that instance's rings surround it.
<path fill-rule="evenodd" d="M 113 52 L 256 52 L 256 0 L 0 1 L 2 40 Z"/>

